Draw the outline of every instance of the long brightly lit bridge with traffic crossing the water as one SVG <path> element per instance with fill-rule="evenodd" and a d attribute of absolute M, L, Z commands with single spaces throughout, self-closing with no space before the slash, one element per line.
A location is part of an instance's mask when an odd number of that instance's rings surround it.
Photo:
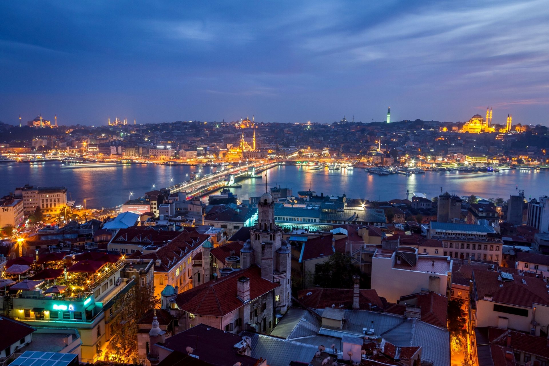
<path fill-rule="evenodd" d="M 250 162 L 216 173 L 205 174 L 203 177 L 187 182 L 171 185 L 167 188 L 170 194 L 185 192 L 187 199 L 215 192 L 223 187 L 231 187 L 240 179 L 256 178 L 258 173 L 281 164 L 281 161 Z"/>

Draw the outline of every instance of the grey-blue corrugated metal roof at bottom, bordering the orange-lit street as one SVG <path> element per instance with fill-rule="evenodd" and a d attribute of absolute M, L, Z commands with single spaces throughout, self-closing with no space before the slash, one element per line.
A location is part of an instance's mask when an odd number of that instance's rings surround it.
<path fill-rule="evenodd" d="M 436 366 L 450 365 L 450 332 L 416 318 L 406 319 L 381 335 L 398 347 L 421 346 L 421 358 Z"/>

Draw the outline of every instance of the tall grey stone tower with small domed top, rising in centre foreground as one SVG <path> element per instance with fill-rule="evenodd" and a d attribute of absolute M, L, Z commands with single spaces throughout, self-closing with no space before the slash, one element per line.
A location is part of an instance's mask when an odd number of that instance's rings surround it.
<path fill-rule="evenodd" d="M 240 251 L 242 269 L 251 264 L 261 267 L 261 277 L 280 284 L 275 289 L 281 313 L 292 305 L 292 259 L 288 243 L 282 241 L 282 229 L 275 224 L 275 200 L 270 193 L 261 195 L 257 203 L 257 224 L 250 230 L 250 240 Z"/>

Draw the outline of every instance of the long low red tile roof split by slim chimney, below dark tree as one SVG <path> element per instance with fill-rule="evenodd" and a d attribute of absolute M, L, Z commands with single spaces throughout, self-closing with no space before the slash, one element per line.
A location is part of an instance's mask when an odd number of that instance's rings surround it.
<path fill-rule="evenodd" d="M 311 295 L 307 295 L 311 292 Z M 376 290 L 359 290 L 358 306 L 363 310 L 370 310 L 372 306 L 383 310 L 385 302 L 378 296 Z M 335 307 L 343 305 L 345 309 L 352 309 L 353 289 L 323 289 L 312 288 L 298 292 L 298 300 L 303 306 L 313 309 L 323 309 L 326 307 Z"/>

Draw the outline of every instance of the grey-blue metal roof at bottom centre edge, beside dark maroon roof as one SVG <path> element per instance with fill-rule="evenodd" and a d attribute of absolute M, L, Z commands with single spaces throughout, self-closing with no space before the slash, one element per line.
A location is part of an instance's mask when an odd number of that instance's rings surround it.
<path fill-rule="evenodd" d="M 315 357 L 318 346 L 288 341 L 265 334 L 243 331 L 242 336 L 251 339 L 251 357 L 264 358 L 269 366 L 288 366 L 292 361 L 309 363 Z M 326 347 L 328 349 L 328 347 Z"/>

